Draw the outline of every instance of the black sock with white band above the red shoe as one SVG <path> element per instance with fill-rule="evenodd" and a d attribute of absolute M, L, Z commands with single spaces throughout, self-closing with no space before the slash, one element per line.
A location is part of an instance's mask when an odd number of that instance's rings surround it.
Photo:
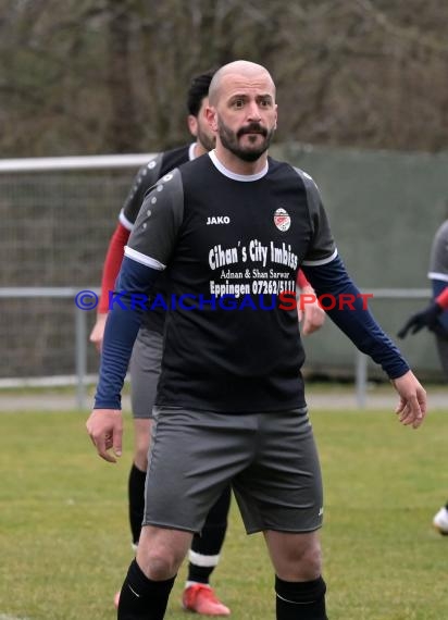
<path fill-rule="evenodd" d="M 229 506 L 231 487 L 228 486 L 208 513 L 202 532 L 192 537 L 187 581 L 209 583 L 210 575 L 217 565 L 217 556 L 227 531 Z"/>

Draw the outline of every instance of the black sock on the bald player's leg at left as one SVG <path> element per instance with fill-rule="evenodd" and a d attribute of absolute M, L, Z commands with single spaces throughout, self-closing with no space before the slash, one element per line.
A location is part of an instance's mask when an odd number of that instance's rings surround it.
<path fill-rule="evenodd" d="M 163 620 L 174 580 L 152 581 L 133 560 L 120 593 L 117 619 Z"/>

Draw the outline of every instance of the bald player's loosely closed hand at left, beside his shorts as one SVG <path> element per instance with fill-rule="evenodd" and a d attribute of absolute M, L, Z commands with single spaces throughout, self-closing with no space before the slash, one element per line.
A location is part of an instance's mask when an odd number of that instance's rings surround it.
<path fill-rule="evenodd" d="M 86 427 L 98 455 L 115 463 L 115 457 L 122 456 L 123 417 L 120 409 L 94 409 Z M 109 452 L 110 449 L 115 457 Z"/>

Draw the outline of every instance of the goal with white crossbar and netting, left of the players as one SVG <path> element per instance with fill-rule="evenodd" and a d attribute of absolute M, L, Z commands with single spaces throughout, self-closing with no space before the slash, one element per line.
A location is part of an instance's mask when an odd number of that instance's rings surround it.
<path fill-rule="evenodd" d="M 73 375 L 75 307 L 61 292 L 99 286 L 119 211 L 138 168 L 153 156 L 0 160 L 3 382 Z M 40 294 L 28 295 L 32 288 Z M 94 320 L 83 318 L 86 330 Z M 95 350 L 85 363 L 96 372 Z"/>

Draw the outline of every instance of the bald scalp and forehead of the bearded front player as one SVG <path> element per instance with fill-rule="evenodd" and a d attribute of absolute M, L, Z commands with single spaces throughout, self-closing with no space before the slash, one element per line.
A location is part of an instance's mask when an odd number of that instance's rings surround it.
<path fill-rule="evenodd" d="M 271 74 L 264 66 L 247 60 L 236 60 L 229 62 L 216 71 L 209 88 L 209 100 L 211 106 L 216 106 L 226 86 L 238 86 L 238 84 L 256 83 L 264 84 L 275 98 L 275 84 Z"/>

